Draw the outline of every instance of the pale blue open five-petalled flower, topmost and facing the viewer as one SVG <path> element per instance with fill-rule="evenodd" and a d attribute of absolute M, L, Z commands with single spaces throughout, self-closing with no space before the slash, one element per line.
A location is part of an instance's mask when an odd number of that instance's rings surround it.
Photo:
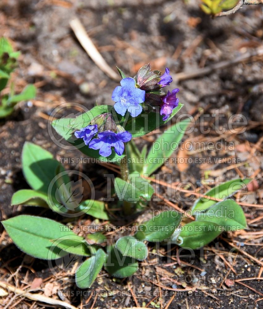
<path fill-rule="evenodd" d="M 135 87 L 135 80 L 131 77 L 123 78 L 121 86 L 117 86 L 112 92 L 114 109 L 121 116 L 128 110 L 132 117 L 138 116 L 142 112 L 142 106 L 145 99 L 145 91 Z"/>

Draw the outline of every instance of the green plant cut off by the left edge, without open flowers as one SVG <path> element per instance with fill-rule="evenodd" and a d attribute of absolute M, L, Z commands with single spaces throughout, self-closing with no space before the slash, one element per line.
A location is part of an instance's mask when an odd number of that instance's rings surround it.
<path fill-rule="evenodd" d="M 0 118 L 9 116 L 14 111 L 15 104 L 20 101 L 34 99 L 36 88 L 28 85 L 19 93 L 14 93 L 14 84 L 11 83 L 8 94 L 1 95 L 1 91 L 6 87 L 10 74 L 17 67 L 17 58 L 20 52 L 14 52 L 11 44 L 5 38 L 0 39 Z"/>

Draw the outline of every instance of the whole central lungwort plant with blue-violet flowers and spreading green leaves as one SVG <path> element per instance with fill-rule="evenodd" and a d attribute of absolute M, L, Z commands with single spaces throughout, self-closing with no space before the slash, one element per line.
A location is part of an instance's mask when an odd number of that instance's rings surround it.
<path fill-rule="evenodd" d="M 51 208 L 67 217 L 67 222 L 85 214 L 97 220 L 111 220 L 117 215 L 124 218 L 146 209 L 154 194 L 149 176 L 172 155 L 176 147 L 171 145 L 178 146 L 188 123 L 171 125 L 148 151 L 146 146 L 139 150 L 133 138 L 166 124 L 183 104 L 176 98 L 179 89 L 163 91 L 172 82 L 168 68 L 161 74 L 151 71 L 148 64 L 134 78 L 118 70 L 121 83 L 112 92 L 113 106 L 95 106 L 74 119 L 61 118 L 52 123 L 57 133 L 85 156 L 119 166 L 121 176 L 114 179 L 114 192 L 107 204 L 96 201 L 92 194 L 90 199 L 83 200 L 84 187 L 76 185 L 78 180 L 70 180 L 69 171 L 48 151 L 27 142 L 23 147 L 22 167 L 32 189 L 16 192 L 12 205 Z M 88 288 L 102 267 L 117 278 L 134 274 L 139 262 L 148 256 L 148 243 L 175 243 L 198 249 L 222 231 L 246 228 L 243 210 L 229 198 L 249 181 L 231 180 L 206 192 L 193 205 L 194 221 L 189 222 L 189 218 L 175 210 L 163 211 L 140 225 L 134 223 L 132 233 L 116 242 L 109 241 L 101 231 L 81 237 L 69 226 L 48 218 L 20 215 L 2 223 L 13 242 L 31 256 L 49 261 L 78 256 L 80 266 L 75 280 L 78 287 Z"/>

